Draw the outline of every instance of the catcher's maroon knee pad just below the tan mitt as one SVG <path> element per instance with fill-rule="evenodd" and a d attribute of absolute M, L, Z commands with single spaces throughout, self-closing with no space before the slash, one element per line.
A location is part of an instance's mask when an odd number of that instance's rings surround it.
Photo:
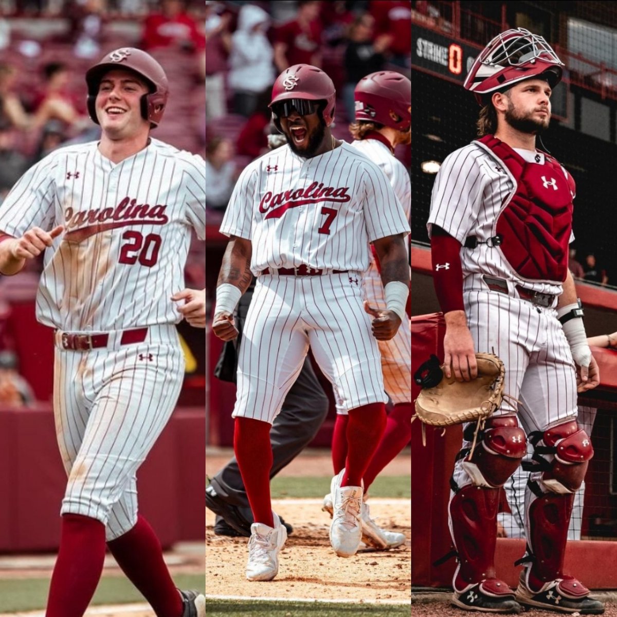
<path fill-rule="evenodd" d="M 473 430 L 473 426 L 467 430 Z M 516 416 L 488 418 L 478 442 L 473 456 L 468 455 L 463 461 L 463 469 L 475 486 L 503 486 L 527 453 L 525 433 L 518 426 Z"/>

